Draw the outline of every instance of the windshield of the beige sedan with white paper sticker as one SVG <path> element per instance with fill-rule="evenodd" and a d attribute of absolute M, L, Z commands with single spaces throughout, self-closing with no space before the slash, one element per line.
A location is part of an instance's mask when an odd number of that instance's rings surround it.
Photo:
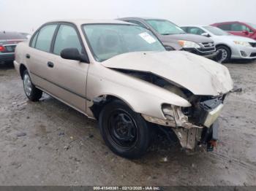
<path fill-rule="evenodd" d="M 83 25 L 94 58 L 105 61 L 115 55 L 139 51 L 165 51 L 146 28 L 124 24 Z"/>

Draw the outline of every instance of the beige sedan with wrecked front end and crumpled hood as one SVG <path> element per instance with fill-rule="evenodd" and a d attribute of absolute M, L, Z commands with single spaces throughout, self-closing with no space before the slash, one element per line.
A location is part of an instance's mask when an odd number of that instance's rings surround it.
<path fill-rule="evenodd" d="M 217 141 L 217 117 L 233 81 L 225 66 L 168 52 L 146 28 L 118 20 L 65 20 L 41 26 L 15 50 L 26 96 L 52 95 L 99 121 L 110 149 L 146 152 L 154 130 L 184 149 Z"/>

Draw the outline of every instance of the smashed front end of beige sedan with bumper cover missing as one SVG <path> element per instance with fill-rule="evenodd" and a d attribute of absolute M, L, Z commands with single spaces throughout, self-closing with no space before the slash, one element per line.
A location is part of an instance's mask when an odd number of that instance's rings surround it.
<path fill-rule="evenodd" d="M 184 149 L 195 151 L 197 147 L 206 145 L 207 150 L 212 151 L 218 139 L 217 118 L 222 111 L 224 98 L 201 101 L 184 110 L 178 106 L 165 105 L 162 108 L 165 119 L 142 116 L 148 122 L 170 127 Z"/>

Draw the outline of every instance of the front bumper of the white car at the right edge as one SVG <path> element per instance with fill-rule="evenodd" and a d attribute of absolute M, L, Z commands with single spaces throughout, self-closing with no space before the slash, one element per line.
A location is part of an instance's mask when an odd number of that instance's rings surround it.
<path fill-rule="evenodd" d="M 231 58 L 233 59 L 256 59 L 256 47 L 244 47 L 236 45 L 232 49 Z"/>

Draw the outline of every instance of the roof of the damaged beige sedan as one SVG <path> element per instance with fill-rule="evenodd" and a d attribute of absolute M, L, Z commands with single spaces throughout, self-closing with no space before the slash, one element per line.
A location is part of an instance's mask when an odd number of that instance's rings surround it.
<path fill-rule="evenodd" d="M 76 25 L 83 25 L 83 24 L 132 24 L 127 23 L 121 20 L 108 20 L 108 19 L 73 19 L 73 20 L 51 20 L 48 23 L 74 23 Z"/>

